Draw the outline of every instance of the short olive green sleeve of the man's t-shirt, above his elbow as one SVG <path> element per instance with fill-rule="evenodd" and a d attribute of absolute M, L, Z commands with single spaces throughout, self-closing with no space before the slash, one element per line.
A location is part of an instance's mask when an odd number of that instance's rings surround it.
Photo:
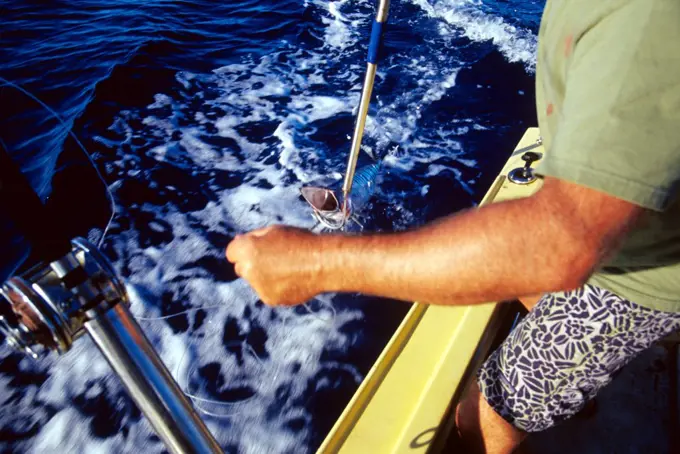
<path fill-rule="evenodd" d="M 633 0 L 583 33 L 537 171 L 663 211 L 680 182 L 680 2 Z"/>

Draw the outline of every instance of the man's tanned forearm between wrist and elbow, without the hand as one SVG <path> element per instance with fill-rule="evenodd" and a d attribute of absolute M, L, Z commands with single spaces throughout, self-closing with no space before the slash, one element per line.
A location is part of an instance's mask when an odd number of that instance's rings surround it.
<path fill-rule="evenodd" d="M 532 199 L 469 210 L 412 232 L 321 237 L 329 291 L 437 304 L 498 301 L 579 286 L 598 251 Z M 530 232 L 530 233 L 529 233 Z"/>

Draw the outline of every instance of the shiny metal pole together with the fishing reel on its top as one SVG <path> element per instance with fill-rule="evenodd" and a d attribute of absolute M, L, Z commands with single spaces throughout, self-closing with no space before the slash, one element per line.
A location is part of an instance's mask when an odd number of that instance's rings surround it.
<path fill-rule="evenodd" d="M 72 250 L 1 288 L 0 331 L 37 358 L 63 354 L 88 333 L 130 396 L 173 453 L 221 453 L 130 313 L 125 287 L 109 261 L 84 239 Z"/>

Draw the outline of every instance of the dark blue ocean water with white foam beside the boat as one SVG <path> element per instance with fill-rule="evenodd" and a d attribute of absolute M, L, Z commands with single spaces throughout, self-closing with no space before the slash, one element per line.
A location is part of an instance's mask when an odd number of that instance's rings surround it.
<path fill-rule="evenodd" d="M 543 3 L 392 2 L 359 163 L 382 160 L 366 230 L 415 227 L 481 198 L 535 125 Z M 63 122 L 0 81 L 0 140 L 73 234 L 102 239 L 111 190 L 104 252 L 227 452 L 313 452 L 408 310 L 359 295 L 269 308 L 224 259 L 238 233 L 311 228 L 299 189 L 341 182 L 374 9 L 0 5 L 0 77 Z M 28 246 L 0 222 L 0 277 L 35 258 Z M 163 452 L 88 339 L 38 361 L 0 348 L 0 400 L 3 452 Z"/>

